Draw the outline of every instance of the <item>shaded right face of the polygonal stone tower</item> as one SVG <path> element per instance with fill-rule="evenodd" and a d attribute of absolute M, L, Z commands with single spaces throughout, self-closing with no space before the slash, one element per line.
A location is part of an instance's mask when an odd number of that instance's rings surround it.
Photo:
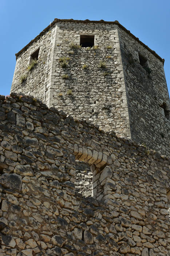
<path fill-rule="evenodd" d="M 162 154 L 170 154 L 170 110 L 163 62 L 119 28 L 120 48 L 126 81 L 131 139 L 145 143 Z M 147 59 L 149 74 L 139 64 L 139 54 Z"/>

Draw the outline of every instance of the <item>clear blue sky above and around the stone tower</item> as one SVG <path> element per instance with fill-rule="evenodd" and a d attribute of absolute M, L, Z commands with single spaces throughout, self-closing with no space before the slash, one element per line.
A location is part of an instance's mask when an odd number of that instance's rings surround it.
<path fill-rule="evenodd" d="M 169 0 L 1 0 L 0 94 L 9 94 L 16 63 L 15 53 L 54 18 L 118 20 L 165 59 L 165 75 L 170 92 Z"/>

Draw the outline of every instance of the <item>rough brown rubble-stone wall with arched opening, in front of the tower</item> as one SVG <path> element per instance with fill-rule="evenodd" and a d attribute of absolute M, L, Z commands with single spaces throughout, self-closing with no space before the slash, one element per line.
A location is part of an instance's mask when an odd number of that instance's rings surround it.
<path fill-rule="evenodd" d="M 170 159 L 38 100 L 0 100 L 0 255 L 170 255 Z M 75 160 L 93 197 L 75 190 Z"/>

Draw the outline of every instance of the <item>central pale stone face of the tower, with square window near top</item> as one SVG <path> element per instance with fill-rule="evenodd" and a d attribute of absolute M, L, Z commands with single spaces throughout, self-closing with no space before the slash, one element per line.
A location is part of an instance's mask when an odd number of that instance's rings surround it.
<path fill-rule="evenodd" d="M 130 137 L 118 27 L 61 22 L 57 23 L 56 33 L 48 105 Z M 71 44 L 80 45 L 81 34 L 95 35 L 98 48 L 72 48 Z M 63 57 L 70 59 L 67 68 L 61 67 Z M 106 68 L 99 67 L 101 61 Z M 87 68 L 83 69 L 83 65 Z M 104 72 L 108 75 L 104 76 Z M 64 80 L 64 75 L 68 79 Z"/>

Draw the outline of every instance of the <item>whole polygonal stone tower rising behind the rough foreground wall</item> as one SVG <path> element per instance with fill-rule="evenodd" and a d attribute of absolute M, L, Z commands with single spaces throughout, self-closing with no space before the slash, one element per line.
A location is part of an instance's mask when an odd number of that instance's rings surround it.
<path fill-rule="evenodd" d="M 164 60 L 119 22 L 55 19 L 16 59 L 11 92 L 170 155 Z"/>

